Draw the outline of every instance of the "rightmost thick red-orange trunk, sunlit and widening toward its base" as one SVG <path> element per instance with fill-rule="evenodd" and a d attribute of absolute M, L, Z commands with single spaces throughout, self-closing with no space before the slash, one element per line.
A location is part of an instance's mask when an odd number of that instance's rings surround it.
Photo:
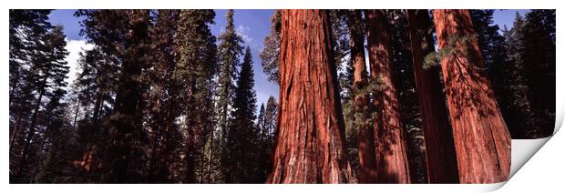
<path fill-rule="evenodd" d="M 447 105 L 451 116 L 461 183 L 508 179 L 510 136 L 488 81 L 468 10 L 435 10 L 437 43 L 456 53 L 443 56 Z M 450 40 L 455 45 L 449 45 Z M 467 40 L 467 42 L 464 42 Z"/>

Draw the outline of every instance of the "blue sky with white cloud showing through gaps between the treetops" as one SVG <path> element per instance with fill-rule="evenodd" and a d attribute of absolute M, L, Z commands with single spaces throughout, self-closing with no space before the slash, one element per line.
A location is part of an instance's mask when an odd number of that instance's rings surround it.
<path fill-rule="evenodd" d="M 73 14 L 76 10 L 55 10 L 49 15 L 49 20 L 54 25 L 63 25 L 65 27 L 65 34 L 67 35 L 70 55 L 67 57 L 69 66 L 71 66 L 70 79 L 75 77 L 77 73 L 76 61 L 78 53 L 81 49 L 87 49 L 85 38 L 79 36 L 80 25 L 78 22 L 80 18 L 75 17 Z M 211 32 L 214 36 L 219 36 L 225 28 L 225 15 L 226 10 L 215 10 L 216 17 L 214 18 L 215 25 L 211 25 Z M 257 106 L 261 103 L 266 103 L 269 96 L 275 96 L 278 99 L 279 87 L 267 81 L 267 76 L 262 72 L 261 59 L 259 53 L 262 50 L 262 40 L 267 36 L 270 31 L 271 15 L 273 10 L 235 10 L 233 19 L 234 25 L 238 33 L 243 37 L 246 46 L 250 46 L 253 56 L 253 70 L 255 73 L 255 90 L 257 92 Z M 527 13 L 527 10 L 497 10 L 493 15 L 494 22 L 502 29 L 504 25 L 508 28 L 512 26 L 516 12 L 520 15 Z"/>

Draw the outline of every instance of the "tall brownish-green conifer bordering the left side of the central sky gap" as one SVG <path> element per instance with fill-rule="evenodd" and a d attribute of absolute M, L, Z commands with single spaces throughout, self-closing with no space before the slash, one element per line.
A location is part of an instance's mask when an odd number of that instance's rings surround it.
<path fill-rule="evenodd" d="M 179 59 L 173 76 L 182 96 L 175 104 L 184 107 L 181 111 L 186 129 L 184 183 L 201 182 L 210 173 L 205 174 L 202 168 L 211 163 L 204 148 L 214 129 L 212 78 L 218 68 L 216 38 L 210 29 L 214 16 L 213 10 L 182 10 L 174 40 Z"/>

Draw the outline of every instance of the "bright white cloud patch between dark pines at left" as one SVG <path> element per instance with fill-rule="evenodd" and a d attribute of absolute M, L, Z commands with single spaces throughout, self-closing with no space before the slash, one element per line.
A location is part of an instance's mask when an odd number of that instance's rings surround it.
<path fill-rule="evenodd" d="M 90 50 L 94 47 L 92 44 L 88 44 L 87 40 L 75 40 L 75 39 L 65 39 L 67 41 L 67 46 L 65 47 L 68 51 L 68 56 L 65 58 L 67 65 L 70 66 L 68 77 L 65 80 L 70 86 L 75 78 L 77 78 L 78 72 L 78 59 L 80 58 L 80 53 L 83 50 Z"/>

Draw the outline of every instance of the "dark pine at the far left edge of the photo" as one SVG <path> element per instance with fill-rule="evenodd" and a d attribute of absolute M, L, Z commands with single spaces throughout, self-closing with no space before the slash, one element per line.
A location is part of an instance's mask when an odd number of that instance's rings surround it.
<path fill-rule="evenodd" d="M 47 21 L 51 10 L 9 11 L 9 152 L 10 182 L 16 178 L 22 160 L 21 151 L 29 135 L 30 117 L 37 101 L 38 50 L 45 50 L 46 34 L 52 29 Z"/>

